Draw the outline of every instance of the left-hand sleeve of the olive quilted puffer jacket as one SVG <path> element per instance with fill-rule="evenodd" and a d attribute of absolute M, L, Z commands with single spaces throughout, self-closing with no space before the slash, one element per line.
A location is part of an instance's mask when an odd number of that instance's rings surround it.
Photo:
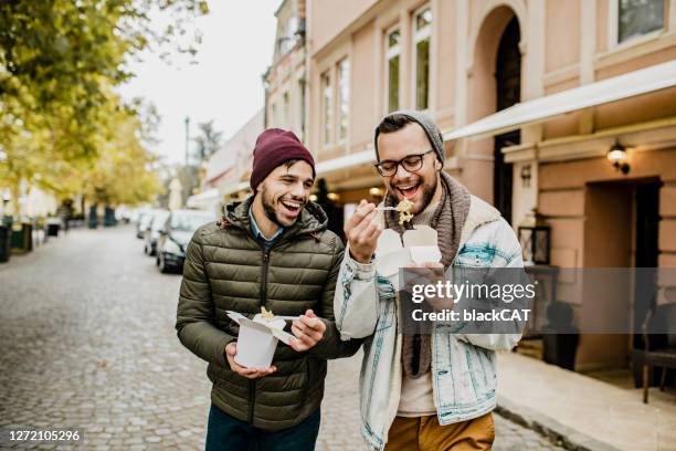
<path fill-rule="evenodd" d="M 200 232 L 198 230 L 194 233 L 186 252 L 176 329 L 183 346 L 194 355 L 211 364 L 228 367 L 225 345 L 235 337 L 213 325 L 215 308 L 204 269 Z"/>

